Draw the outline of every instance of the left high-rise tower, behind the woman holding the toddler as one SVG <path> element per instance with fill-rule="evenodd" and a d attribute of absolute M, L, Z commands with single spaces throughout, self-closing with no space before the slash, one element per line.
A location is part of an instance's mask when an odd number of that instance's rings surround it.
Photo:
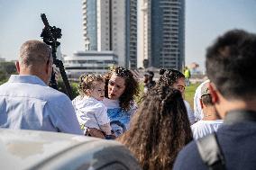
<path fill-rule="evenodd" d="M 123 67 L 137 67 L 137 0 L 83 0 L 86 50 L 112 50 Z"/>

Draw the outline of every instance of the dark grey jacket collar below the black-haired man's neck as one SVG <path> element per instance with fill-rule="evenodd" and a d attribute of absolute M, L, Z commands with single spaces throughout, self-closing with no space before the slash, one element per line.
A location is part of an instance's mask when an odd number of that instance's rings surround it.
<path fill-rule="evenodd" d="M 256 111 L 234 110 L 227 112 L 224 118 L 225 124 L 234 124 L 243 121 L 256 121 Z"/>

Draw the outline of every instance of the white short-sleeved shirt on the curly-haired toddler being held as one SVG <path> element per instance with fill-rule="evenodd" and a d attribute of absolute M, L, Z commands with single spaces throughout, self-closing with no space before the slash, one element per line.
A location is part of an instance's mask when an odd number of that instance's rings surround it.
<path fill-rule="evenodd" d="M 109 123 L 107 109 L 103 102 L 97 101 L 93 97 L 78 96 L 72 101 L 72 104 L 80 125 L 100 130 L 100 125 Z"/>

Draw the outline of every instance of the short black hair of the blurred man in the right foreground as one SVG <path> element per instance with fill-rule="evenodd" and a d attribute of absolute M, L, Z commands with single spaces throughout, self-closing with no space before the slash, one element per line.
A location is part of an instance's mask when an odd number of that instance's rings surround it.
<path fill-rule="evenodd" d="M 206 73 L 224 97 L 250 100 L 256 95 L 256 34 L 224 33 L 206 51 Z"/>

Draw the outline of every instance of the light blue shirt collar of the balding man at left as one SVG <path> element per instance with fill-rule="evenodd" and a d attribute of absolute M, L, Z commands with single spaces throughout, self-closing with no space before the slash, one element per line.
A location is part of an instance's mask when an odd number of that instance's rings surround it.
<path fill-rule="evenodd" d="M 41 80 L 41 78 L 32 75 L 11 75 L 8 83 L 28 83 L 48 86 Z"/>

